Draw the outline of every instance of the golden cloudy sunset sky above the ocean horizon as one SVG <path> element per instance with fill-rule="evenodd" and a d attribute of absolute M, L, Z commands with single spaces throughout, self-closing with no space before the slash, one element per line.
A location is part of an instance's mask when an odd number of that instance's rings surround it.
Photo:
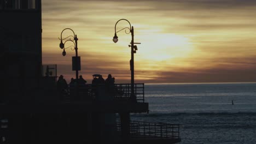
<path fill-rule="evenodd" d="M 78 36 L 79 75 L 108 74 L 130 82 L 131 34 L 114 26 L 127 19 L 134 27 L 135 82 L 255 82 L 256 1 L 42 1 L 43 64 L 57 64 L 58 75 L 75 77 L 72 56 L 59 47 L 61 31 Z M 117 29 L 129 27 L 120 21 Z M 63 37 L 72 34 L 63 32 Z M 66 43 L 66 46 L 72 45 Z"/>

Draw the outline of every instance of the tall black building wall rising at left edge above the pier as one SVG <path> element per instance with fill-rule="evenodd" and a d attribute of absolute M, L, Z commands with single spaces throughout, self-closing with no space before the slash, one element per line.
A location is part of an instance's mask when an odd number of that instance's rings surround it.
<path fill-rule="evenodd" d="M 42 65 L 40 1 L 0 1 L 1 47 L 8 103 L 26 103 L 39 88 Z M 2 65 L 1 65 L 2 66 Z"/>

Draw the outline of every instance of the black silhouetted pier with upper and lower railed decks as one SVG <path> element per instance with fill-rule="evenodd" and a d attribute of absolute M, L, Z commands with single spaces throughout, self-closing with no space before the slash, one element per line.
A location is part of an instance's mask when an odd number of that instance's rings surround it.
<path fill-rule="evenodd" d="M 104 91 L 103 85 L 98 87 L 101 87 L 98 91 Z M 32 142 L 47 142 L 42 137 L 48 137 L 52 142 L 61 141 L 62 143 L 71 141 L 176 143 L 181 141 L 178 124 L 130 121 L 130 113 L 148 112 L 148 103 L 144 98 L 144 83 L 136 83 L 135 89 L 136 96 L 138 95 L 137 102 L 130 100 L 130 84 L 123 83 L 115 84 L 115 91 L 119 93 L 108 96 L 103 92 L 97 92 L 103 95 L 95 95 L 91 91 L 91 85 L 86 85 L 79 88 L 79 91 L 86 92 L 79 94 L 79 100 L 72 99 L 67 89 L 67 94 L 63 95 L 66 98 L 55 101 L 56 103 L 2 103 L 0 109 L 4 111 L 1 113 L 1 139 L 15 142 L 22 133 L 26 137 L 30 136 L 26 139 Z M 37 133 L 39 137 L 31 135 L 32 133 Z M 60 140 L 62 135 L 70 139 L 62 141 Z M 16 138 L 14 140 L 11 137 Z M 20 139 L 24 138 L 20 137 Z"/>

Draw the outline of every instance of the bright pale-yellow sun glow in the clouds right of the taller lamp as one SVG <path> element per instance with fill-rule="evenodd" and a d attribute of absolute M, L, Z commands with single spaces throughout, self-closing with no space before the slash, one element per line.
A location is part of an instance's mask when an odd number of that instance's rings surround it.
<path fill-rule="evenodd" d="M 151 61 L 167 61 L 173 58 L 187 57 L 193 51 L 189 38 L 177 34 L 158 33 L 144 36 L 139 45 L 142 59 Z"/>

